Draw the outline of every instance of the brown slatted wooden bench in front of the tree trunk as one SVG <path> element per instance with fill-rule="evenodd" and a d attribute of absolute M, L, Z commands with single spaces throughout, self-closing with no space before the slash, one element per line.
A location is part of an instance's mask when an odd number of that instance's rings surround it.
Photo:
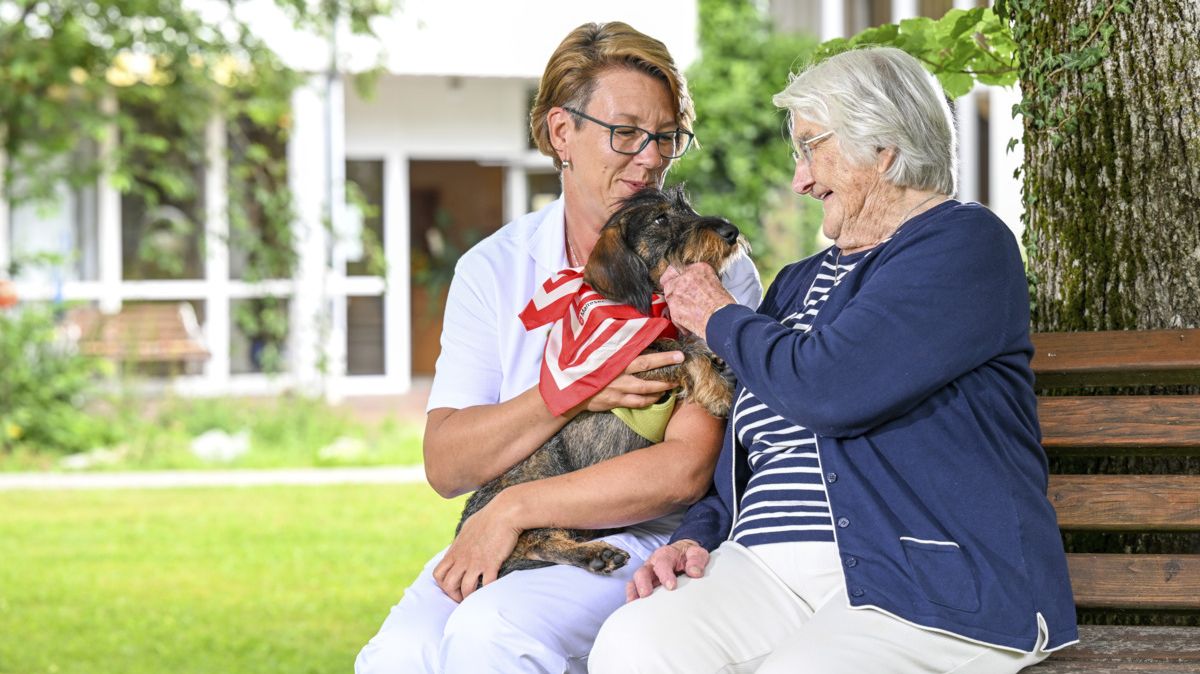
<path fill-rule="evenodd" d="M 1073 393 L 1038 398 L 1049 456 L 1200 457 L 1200 396 L 1112 395 L 1200 385 L 1200 330 L 1049 332 L 1033 343 L 1039 393 Z M 1064 532 L 1200 532 L 1200 475 L 1051 475 L 1049 497 Z M 1073 553 L 1068 565 L 1080 609 L 1200 615 L 1200 554 Z M 1080 625 L 1079 644 L 1027 672 L 1196 673 L 1200 627 Z"/>

